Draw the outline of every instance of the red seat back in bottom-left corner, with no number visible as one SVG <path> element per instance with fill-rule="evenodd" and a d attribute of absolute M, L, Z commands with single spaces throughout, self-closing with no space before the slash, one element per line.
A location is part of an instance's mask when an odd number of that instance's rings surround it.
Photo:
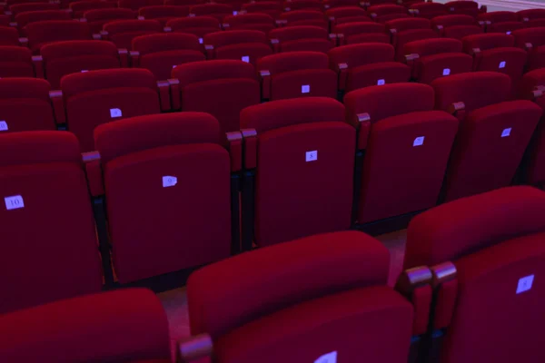
<path fill-rule="evenodd" d="M 5 362 L 170 362 L 168 320 L 161 301 L 146 289 L 20 310 L 0 316 L 0 327 Z"/>

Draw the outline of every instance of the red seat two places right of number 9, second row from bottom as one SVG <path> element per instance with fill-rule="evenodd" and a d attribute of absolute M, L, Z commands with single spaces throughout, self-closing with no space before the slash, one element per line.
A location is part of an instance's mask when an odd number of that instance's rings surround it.
<path fill-rule="evenodd" d="M 367 87 L 344 96 L 349 121 L 360 125 L 358 149 L 365 151 L 362 185 L 355 186 L 361 188 L 359 223 L 436 204 L 459 123 L 432 111 L 433 101 L 433 89 L 417 83 Z"/>

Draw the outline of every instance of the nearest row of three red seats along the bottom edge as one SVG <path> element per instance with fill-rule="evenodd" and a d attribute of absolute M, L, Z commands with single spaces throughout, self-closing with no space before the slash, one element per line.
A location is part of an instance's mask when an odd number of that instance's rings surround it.
<path fill-rule="evenodd" d="M 356 231 L 214 263 L 188 280 L 192 337 L 177 361 L 414 363 L 436 351 L 441 363 L 539 363 L 544 215 L 545 194 L 528 187 L 426 211 L 395 289 L 389 251 Z M 145 290 L 4 314 L 0 330 L 5 362 L 170 361 L 166 316 Z"/>

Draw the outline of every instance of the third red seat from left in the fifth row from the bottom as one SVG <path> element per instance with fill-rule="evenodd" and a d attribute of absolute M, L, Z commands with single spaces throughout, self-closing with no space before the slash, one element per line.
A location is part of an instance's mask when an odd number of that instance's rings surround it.
<path fill-rule="evenodd" d="M 163 32 L 158 20 L 116 20 L 103 26 L 101 35 L 112 41 L 118 48 L 131 49 L 136 36 Z"/>

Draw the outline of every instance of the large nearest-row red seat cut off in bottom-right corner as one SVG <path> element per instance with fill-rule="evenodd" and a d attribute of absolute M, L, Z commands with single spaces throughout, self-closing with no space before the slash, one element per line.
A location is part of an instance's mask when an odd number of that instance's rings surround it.
<path fill-rule="evenodd" d="M 434 266 L 433 328 L 445 334 L 441 362 L 545 359 L 544 212 L 542 191 L 511 187 L 443 204 L 411 221 L 405 267 Z"/>

